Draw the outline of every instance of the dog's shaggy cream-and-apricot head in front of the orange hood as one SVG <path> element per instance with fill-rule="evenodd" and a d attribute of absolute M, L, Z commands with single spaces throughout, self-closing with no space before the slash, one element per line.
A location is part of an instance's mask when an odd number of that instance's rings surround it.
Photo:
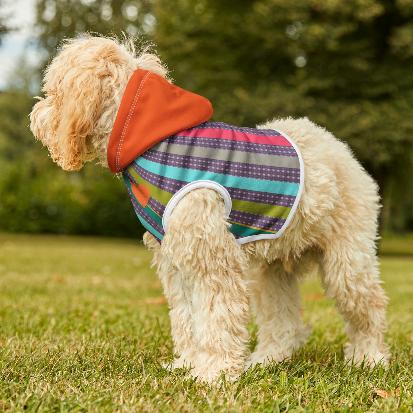
<path fill-rule="evenodd" d="M 30 128 L 62 169 L 74 171 L 106 150 L 117 110 L 135 69 L 166 77 L 149 47 L 135 52 L 132 40 L 85 35 L 65 40 L 45 71 L 45 97 L 30 114 Z"/>

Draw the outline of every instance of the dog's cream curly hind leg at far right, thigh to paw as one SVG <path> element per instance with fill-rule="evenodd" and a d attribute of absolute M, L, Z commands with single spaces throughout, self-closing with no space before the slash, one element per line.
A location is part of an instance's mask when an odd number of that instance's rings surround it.
<path fill-rule="evenodd" d="M 354 357 L 356 364 L 365 356 L 368 364 L 387 363 L 387 297 L 380 285 L 375 245 L 377 185 L 351 159 L 346 167 L 337 168 L 336 174 L 340 197 L 334 211 L 323 220 L 324 230 L 313 231 L 319 235 L 323 253 L 323 286 L 327 296 L 336 299 L 347 323 L 350 344 L 344 356 Z"/>

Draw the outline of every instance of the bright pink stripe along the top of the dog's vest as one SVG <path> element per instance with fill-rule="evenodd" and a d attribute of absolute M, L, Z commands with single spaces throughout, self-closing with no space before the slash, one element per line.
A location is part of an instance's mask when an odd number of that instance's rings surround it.
<path fill-rule="evenodd" d="M 218 139 L 230 139 L 241 140 L 243 142 L 263 143 L 265 145 L 279 145 L 279 146 L 292 146 L 284 136 L 264 136 L 254 135 L 252 133 L 227 131 L 224 129 L 215 128 L 203 128 L 203 129 L 186 129 L 174 133 L 175 136 L 197 136 L 198 138 L 218 138 Z"/>

